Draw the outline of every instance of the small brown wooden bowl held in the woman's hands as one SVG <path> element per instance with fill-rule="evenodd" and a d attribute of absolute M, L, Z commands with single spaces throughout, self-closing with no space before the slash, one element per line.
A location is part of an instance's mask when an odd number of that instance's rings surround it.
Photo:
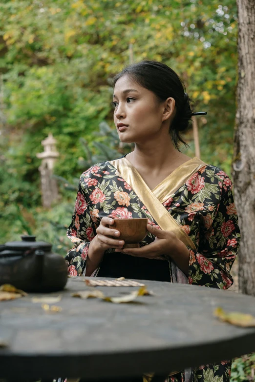
<path fill-rule="evenodd" d="M 123 248 L 138 248 L 138 242 L 147 235 L 147 224 L 147 218 L 114 219 L 110 227 L 120 231 L 118 239 L 125 241 Z"/>

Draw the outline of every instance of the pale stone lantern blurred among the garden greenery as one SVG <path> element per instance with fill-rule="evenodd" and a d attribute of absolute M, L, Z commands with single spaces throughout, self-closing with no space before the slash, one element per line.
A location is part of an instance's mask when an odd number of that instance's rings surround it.
<path fill-rule="evenodd" d="M 44 151 L 38 153 L 36 156 L 42 159 L 39 171 L 41 173 L 43 207 L 50 208 L 51 204 L 59 199 L 58 184 L 56 179 L 52 177 L 54 163 L 59 153 L 56 150 L 56 140 L 51 133 L 42 141 L 42 145 Z"/>

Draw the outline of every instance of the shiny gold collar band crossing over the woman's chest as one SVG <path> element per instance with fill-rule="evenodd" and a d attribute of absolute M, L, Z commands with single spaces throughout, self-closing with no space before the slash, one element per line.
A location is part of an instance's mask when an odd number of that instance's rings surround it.
<path fill-rule="evenodd" d="M 170 198 L 185 182 L 206 163 L 199 158 L 177 167 L 164 181 L 160 182 L 153 190 L 143 180 L 139 172 L 126 158 L 115 159 L 110 163 L 118 170 L 121 177 L 127 181 L 134 193 L 143 202 L 152 218 L 164 231 L 172 231 L 184 244 L 196 250 L 195 244 L 181 228 L 181 225 L 170 215 L 163 206 L 163 202 Z"/>

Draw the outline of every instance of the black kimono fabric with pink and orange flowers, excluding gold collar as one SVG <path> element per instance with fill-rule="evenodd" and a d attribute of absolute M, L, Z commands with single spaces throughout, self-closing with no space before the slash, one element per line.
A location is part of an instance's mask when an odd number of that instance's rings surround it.
<path fill-rule="evenodd" d="M 190 284 L 228 289 L 233 283 L 230 270 L 237 255 L 240 231 L 232 187 L 225 172 L 206 165 L 163 203 L 197 248 L 197 251 L 188 248 Z M 80 177 L 75 210 L 67 230 L 74 244 L 65 258 L 70 275 L 85 275 L 88 246 L 104 216 L 116 219 L 146 217 L 149 224 L 158 227 L 147 207 L 108 161 L 92 166 Z M 148 233 L 140 244 L 149 244 L 154 239 Z M 192 382 L 230 380 L 230 362 L 201 367 L 193 369 Z M 172 376 L 172 382 L 181 381 L 181 374 Z"/>

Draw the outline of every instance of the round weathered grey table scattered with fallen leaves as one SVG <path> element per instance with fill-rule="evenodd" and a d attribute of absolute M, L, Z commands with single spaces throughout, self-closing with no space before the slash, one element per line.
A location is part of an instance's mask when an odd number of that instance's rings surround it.
<path fill-rule="evenodd" d="M 34 294 L 0 302 L 0 338 L 9 344 L 0 349 L 0 377 L 164 374 L 255 351 L 255 328 L 213 317 L 217 306 L 255 315 L 255 298 L 200 286 L 144 282 L 154 296 L 128 304 L 71 297 L 74 291 L 89 289 L 82 277 L 68 279 L 60 293 L 47 294 L 62 295 L 55 303 L 62 312 L 44 311 L 41 303 L 32 302 Z M 96 288 L 108 296 L 136 289 Z"/>

